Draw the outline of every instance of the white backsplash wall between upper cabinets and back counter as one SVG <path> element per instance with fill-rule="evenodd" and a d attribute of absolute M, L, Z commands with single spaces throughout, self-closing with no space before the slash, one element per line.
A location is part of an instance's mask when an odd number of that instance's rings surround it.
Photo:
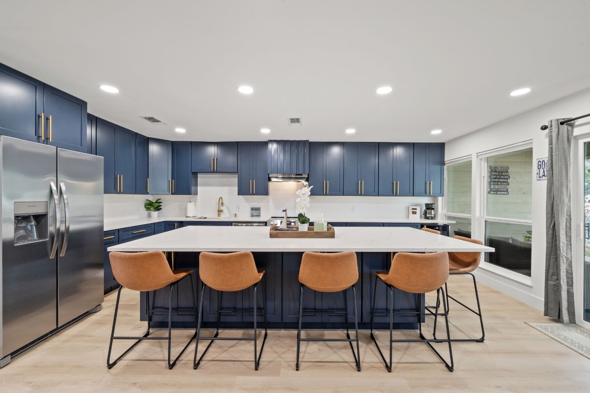
<path fill-rule="evenodd" d="M 121 220 L 147 217 L 143 209 L 146 198 L 162 198 L 160 216 L 184 216 L 186 203 L 195 203 L 199 216 L 217 216 L 217 202 L 223 197 L 225 202 L 224 216 L 250 217 L 250 207 L 260 207 L 261 219 L 271 216 L 283 216 L 281 210 L 287 209 L 289 216 L 295 213 L 295 192 L 302 187 L 301 183 L 269 183 L 268 196 L 238 195 L 237 174 L 199 174 L 198 195 L 107 195 L 104 196 L 104 219 Z M 345 197 L 345 196 L 312 196 L 311 206 L 307 213 L 315 220 L 318 213 L 326 219 L 369 218 L 379 221 L 386 218 L 408 218 L 408 206 L 420 206 L 424 203 L 437 203 L 441 198 L 433 197 Z"/>

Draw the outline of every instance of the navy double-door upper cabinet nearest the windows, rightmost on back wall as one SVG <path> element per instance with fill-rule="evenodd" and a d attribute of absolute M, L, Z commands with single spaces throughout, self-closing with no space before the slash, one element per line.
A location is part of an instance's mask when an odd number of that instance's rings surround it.
<path fill-rule="evenodd" d="M 444 194 L 444 143 L 414 143 L 414 196 Z"/>

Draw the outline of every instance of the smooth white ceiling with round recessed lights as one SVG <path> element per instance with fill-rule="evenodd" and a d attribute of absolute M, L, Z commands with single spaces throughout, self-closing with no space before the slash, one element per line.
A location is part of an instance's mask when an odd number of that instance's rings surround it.
<path fill-rule="evenodd" d="M 89 113 L 171 140 L 448 141 L 590 87 L 587 0 L 0 0 L 0 9 L 0 62 L 83 98 Z M 238 93 L 242 84 L 254 94 Z M 393 93 L 376 94 L 382 85 Z M 509 96 L 520 87 L 532 92 Z"/>

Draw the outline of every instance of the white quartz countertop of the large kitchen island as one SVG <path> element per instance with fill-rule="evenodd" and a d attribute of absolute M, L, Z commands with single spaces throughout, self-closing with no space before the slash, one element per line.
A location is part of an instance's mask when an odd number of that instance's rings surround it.
<path fill-rule="evenodd" d="M 336 227 L 334 239 L 273 238 L 268 227 L 189 226 L 109 247 L 109 251 L 177 252 L 493 252 L 409 227 Z"/>

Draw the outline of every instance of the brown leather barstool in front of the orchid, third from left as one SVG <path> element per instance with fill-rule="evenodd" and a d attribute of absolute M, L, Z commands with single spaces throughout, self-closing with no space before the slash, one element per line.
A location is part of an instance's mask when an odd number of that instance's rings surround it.
<path fill-rule="evenodd" d="M 356 318 L 356 290 L 355 283 L 359 280 L 359 267 L 356 261 L 356 253 L 317 253 L 306 252 L 301 257 L 299 268 L 299 282 L 301 283 L 299 298 L 299 328 L 297 329 L 297 362 L 295 369 L 299 371 L 299 349 L 301 341 L 346 341 L 350 345 L 352 355 L 355 358 L 356 371 L 360 371 L 359 353 L 359 327 Z M 303 310 L 303 287 L 313 289 L 317 292 L 344 292 L 345 311 L 319 311 Z M 346 290 L 352 288 L 353 312 L 355 316 L 355 338 L 350 338 L 348 330 L 348 296 Z M 346 338 L 301 338 L 301 316 L 303 312 L 342 314 L 345 316 Z M 356 342 L 356 352 L 352 343 Z M 358 355 L 358 356 L 357 356 Z"/>

